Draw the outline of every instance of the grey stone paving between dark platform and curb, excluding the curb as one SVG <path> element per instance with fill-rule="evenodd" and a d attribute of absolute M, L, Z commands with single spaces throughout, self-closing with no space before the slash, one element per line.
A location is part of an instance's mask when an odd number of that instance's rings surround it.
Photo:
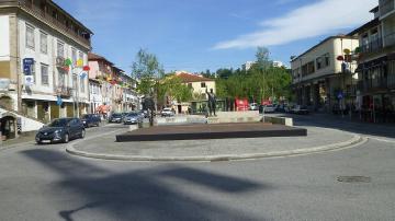
<path fill-rule="evenodd" d="M 84 140 L 74 144 L 78 151 L 140 156 L 208 156 L 223 154 L 253 154 L 298 149 L 317 148 L 346 142 L 354 138 L 353 133 L 319 127 L 303 127 L 307 137 L 290 138 L 248 138 L 184 141 L 143 141 L 115 142 L 114 135 Z"/>

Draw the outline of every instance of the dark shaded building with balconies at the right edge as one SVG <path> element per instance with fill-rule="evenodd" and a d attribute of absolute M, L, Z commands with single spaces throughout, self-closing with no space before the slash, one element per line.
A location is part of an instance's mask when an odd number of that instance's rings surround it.
<path fill-rule="evenodd" d="M 373 20 L 354 30 L 358 108 L 366 121 L 395 121 L 395 1 L 380 0 Z"/>

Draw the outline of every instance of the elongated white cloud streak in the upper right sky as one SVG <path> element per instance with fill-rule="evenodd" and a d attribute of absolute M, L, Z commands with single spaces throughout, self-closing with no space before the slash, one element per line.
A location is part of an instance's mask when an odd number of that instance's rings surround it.
<path fill-rule="evenodd" d="M 377 0 L 321 0 L 285 14 L 263 21 L 263 30 L 216 44 L 214 49 L 251 48 L 284 45 L 326 34 L 353 28 L 372 19 L 369 13 Z"/>

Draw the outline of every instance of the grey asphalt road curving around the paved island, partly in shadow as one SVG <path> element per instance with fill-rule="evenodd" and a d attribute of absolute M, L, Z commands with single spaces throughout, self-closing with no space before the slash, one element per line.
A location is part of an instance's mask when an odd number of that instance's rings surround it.
<path fill-rule="evenodd" d="M 392 221 L 394 159 L 388 136 L 342 151 L 214 163 L 101 161 L 69 155 L 65 144 L 25 144 L 0 151 L 0 220 Z"/>

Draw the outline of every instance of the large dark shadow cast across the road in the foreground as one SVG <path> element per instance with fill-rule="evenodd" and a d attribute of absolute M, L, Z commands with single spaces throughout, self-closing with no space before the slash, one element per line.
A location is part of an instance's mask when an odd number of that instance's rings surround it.
<path fill-rule="evenodd" d="M 66 220 L 94 212 L 104 220 L 262 220 L 242 211 L 193 196 L 196 185 L 207 187 L 218 197 L 237 193 L 266 190 L 268 185 L 185 166 L 160 165 L 149 170 L 114 173 L 53 150 L 22 152 L 63 177 L 55 191 L 67 191 L 81 199 L 76 208 L 65 208 L 58 216 Z M 165 179 L 183 179 L 183 190 Z M 191 189 L 191 190 L 185 190 Z M 63 206 L 64 207 L 64 206 Z"/>

